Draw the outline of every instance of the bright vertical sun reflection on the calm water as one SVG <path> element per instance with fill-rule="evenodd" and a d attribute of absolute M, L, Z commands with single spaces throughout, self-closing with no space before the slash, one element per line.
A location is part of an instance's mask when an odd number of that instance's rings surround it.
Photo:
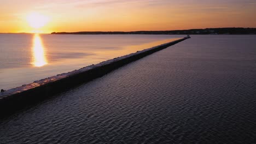
<path fill-rule="evenodd" d="M 33 38 L 33 60 L 34 67 L 42 67 L 47 64 L 45 50 L 39 34 L 34 34 Z"/>

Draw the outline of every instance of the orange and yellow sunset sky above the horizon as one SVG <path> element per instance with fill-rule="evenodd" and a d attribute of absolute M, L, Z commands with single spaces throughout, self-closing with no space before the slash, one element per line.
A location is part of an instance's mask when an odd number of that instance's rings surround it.
<path fill-rule="evenodd" d="M 256 27 L 256 0 L 0 0 L 2 33 L 216 27 Z"/>

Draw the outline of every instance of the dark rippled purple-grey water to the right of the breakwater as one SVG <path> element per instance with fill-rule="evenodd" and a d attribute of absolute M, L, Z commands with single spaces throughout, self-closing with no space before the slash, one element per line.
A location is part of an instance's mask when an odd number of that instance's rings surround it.
<path fill-rule="evenodd" d="M 256 143 L 255 35 L 198 35 L 0 120 L 0 143 Z"/>

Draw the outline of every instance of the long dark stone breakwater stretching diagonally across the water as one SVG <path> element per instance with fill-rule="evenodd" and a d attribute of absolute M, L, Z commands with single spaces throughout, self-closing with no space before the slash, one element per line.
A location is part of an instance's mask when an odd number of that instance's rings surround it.
<path fill-rule="evenodd" d="M 142 57 L 150 55 L 156 51 L 166 49 L 190 37 L 171 41 L 142 51 L 137 51 L 129 55 L 117 57 L 98 64 L 89 65 L 79 70 L 48 77 L 39 81 L 34 81 L 28 85 L 12 88 L 0 93 L 0 117 L 21 109 L 26 105 L 37 103 L 56 93 L 66 91 L 80 83 L 101 77 L 110 71 L 117 69 L 127 63 L 136 61 Z"/>

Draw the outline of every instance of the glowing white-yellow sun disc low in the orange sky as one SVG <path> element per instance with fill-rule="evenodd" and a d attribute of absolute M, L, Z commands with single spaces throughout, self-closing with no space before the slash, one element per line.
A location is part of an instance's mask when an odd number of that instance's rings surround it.
<path fill-rule="evenodd" d="M 32 28 L 41 28 L 43 27 L 47 22 L 49 21 L 49 18 L 47 16 L 44 16 L 42 14 L 38 13 L 31 13 L 27 15 L 27 22 Z"/>

